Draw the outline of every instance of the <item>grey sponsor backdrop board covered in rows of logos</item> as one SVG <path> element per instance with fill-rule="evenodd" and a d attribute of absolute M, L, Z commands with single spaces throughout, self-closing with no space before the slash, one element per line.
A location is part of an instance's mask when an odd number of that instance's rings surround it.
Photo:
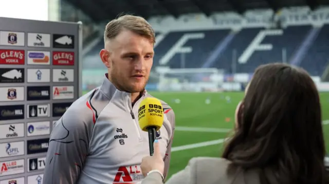
<path fill-rule="evenodd" d="M 42 184 L 53 125 L 80 96 L 82 24 L 0 17 L 0 184 Z"/>

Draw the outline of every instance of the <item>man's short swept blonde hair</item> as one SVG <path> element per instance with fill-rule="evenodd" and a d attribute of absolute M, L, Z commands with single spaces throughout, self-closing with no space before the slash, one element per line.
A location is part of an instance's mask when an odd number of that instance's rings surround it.
<path fill-rule="evenodd" d="M 155 34 L 151 25 L 143 17 L 134 15 L 119 16 L 107 23 L 104 31 L 104 42 L 115 38 L 123 29 L 144 36 L 155 44 Z"/>

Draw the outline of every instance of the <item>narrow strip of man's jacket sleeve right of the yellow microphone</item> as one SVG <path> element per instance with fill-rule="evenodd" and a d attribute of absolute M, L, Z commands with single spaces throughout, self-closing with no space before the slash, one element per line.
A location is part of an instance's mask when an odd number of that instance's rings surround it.
<path fill-rule="evenodd" d="M 165 161 L 165 169 L 163 170 L 164 171 L 163 177 L 165 177 L 165 179 L 166 179 L 168 171 L 169 171 L 169 165 L 170 165 L 170 159 L 171 159 L 171 147 L 173 144 L 174 131 L 175 131 L 175 113 L 172 109 L 167 109 L 167 112 L 166 112 L 166 110 L 164 112 L 167 114 L 167 118 L 171 124 L 171 132 L 172 132 L 171 137 L 168 142 L 166 156 L 163 159 L 163 161 Z"/>

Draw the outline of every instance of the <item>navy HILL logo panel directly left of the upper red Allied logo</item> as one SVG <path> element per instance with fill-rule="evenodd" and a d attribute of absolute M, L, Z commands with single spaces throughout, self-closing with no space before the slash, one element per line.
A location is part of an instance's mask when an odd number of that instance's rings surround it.
<path fill-rule="evenodd" d="M 28 86 L 27 100 L 49 100 L 50 86 Z"/>

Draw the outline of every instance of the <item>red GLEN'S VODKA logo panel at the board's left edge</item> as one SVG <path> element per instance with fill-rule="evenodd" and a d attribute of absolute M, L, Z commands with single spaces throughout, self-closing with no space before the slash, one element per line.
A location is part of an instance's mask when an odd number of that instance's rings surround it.
<path fill-rule="evenodd" d="M 2 65 L 24 65 L 24 50 L 0 50 L 0 64 Z"/>

